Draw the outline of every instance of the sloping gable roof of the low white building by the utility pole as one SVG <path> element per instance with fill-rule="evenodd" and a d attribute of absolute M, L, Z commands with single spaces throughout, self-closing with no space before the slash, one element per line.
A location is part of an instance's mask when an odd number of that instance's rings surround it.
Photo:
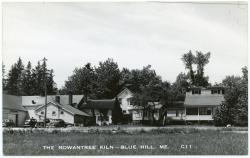
<path fill-rule="evenodd" d="M 62 105 L 62 104 L 59 104 L 59 103 L 56 103 L 56 102 L 49 102 L 48 104 L 53 104 L 53 105 L 56 105 L 56 106 L 59 106 L 60 108 L 62 108 L 63 110 L 73 114 L 73 115 L 83 115 L 83 116 L 90 116 L 89 114 L 83 112 L 83 111 L 80 111 L 74 107 L 72 107 L 71 105 Z M 36 108 L 36 110 L 39 110 L 41 108 L 43 108 L 44 105 L 41 105 L 41 106 L 38 106 Z"/>

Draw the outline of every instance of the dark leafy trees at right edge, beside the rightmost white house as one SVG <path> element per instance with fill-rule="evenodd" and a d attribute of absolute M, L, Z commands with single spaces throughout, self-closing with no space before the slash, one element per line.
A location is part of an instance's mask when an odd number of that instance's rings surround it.
<path fill-rule="evenodd" d="M 242 69 L 243 76 L 227 76 L 222 84 L 226 87 L 225 101 L 216 109 L 215 124 L 247 126 L 248 122 L 248 70 Z"/>

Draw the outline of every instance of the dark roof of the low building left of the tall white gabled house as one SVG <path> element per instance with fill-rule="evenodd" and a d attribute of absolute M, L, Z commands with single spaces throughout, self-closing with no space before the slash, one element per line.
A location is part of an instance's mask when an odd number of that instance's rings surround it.
<path fill-rule="evenodd" d="M 87 104 L 83 103 L 79 105 L 79 109 L 113 109 L 114 105 L 114 99 L 89 100 Z"/>

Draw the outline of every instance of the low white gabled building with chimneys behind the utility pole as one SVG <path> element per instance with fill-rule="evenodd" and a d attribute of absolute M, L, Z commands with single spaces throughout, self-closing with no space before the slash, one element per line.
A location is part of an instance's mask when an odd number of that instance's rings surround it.
<path fill-rule="evenodd" d="M 81 113 L 76 108 L 77 104 L 81 101 L 83 95 L 48 95 L 47 96 L 47 118 L 60 118 L 68 123 L 77 123 L 75 118 L 80 116 L 88 116 L 86 113 Z M 44 119 L 44 112 L 40 111 L 45 105 L 44 96 L 21 96 L 21 104 L 27 109 L 29 118 L 35 118 L 38 121 Z M 63 106 L 64 108 L 61 108 Z M 58 110 L 63 112 L 59 112 Z M 52 112 L 53 113 L 52 115 Z M 61 114 L 63 113 L 63 114 Z"/>

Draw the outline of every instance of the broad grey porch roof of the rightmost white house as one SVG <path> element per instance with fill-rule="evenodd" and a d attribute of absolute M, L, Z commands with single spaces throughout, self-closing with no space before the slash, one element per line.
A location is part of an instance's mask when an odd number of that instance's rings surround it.
<path fill-rule="evenodd" d="M 199 105 L 209 105 L 217 106 L 224 101 L 222 95 L 192 95 L 186 96 L 184 105 L 185 106 L 199 106 Z"/>

